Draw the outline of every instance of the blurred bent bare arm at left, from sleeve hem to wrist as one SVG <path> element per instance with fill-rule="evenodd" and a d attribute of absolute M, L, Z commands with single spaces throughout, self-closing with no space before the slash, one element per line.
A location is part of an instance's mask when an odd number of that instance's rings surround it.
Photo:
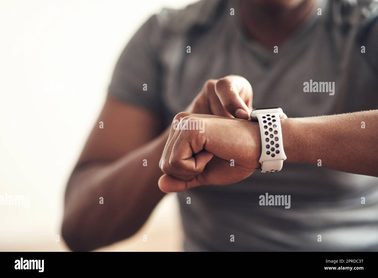
<path fill-rule="evenodd" d="M 167 132 L 158 136 L 160 119 L 108 99 L 99 121 L 104 129 L 98 124 L 93 128 L 65 195 L 62 234 L 75 251 L 131 236 L 164 196 L 156 186 L 167 140 Z"/>

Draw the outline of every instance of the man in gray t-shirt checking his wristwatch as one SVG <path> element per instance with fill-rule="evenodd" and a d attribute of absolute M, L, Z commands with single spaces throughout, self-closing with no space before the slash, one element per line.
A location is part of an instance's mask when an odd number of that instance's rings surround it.
<path fill-rule="evenodd" d="M 68 182 L 68 246 L 127 238 L 179 192 L 187 251 L 377 250 L 376 14 L 366 1 L 208 0 L 151 17 Z M 283 108 L 285 162 L 300 163 L 251 175 L 263 148 L 252 105 Z"/>

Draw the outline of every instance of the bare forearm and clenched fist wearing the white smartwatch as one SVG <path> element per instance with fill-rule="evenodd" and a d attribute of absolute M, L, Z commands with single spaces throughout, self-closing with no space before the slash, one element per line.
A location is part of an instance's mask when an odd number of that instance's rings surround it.
<path fill-rule="evenodd" d="M 175 120 L 202 121 L 198 130 L 170 130 L 160 160 L 163 192 L 241 181 L 260 168 L 259 125 L 248 120 L 181 113 Z M 285 162 L 305 162 L 378 177 L 378 110 L 282 119 Z M 361 125 L 365 123 L 365 128 Z M 231 167 L 231 159 L 235 167 Z M 285 171 L 285 168 L 283 169 Z"/>

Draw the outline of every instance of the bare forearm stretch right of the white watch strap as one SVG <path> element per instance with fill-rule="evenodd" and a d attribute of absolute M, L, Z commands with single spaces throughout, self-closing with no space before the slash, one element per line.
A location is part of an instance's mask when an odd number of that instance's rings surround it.
<path fill-rule="evenodd" d="M 285 162 L 319 164 L 321 159 L 322 167 L 378 177 L 378 110 L 284 119 L 281 124 Z"/>

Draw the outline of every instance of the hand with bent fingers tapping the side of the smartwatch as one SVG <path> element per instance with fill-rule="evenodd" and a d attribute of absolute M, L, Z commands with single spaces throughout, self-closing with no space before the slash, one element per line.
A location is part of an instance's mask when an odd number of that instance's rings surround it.
<path fill-rule="evenodd" d="M 229 75 L 205 82 L 186 109 L 189 113 L 248 119 L 252 109 L 252 86 L 242 76 Z"/>

